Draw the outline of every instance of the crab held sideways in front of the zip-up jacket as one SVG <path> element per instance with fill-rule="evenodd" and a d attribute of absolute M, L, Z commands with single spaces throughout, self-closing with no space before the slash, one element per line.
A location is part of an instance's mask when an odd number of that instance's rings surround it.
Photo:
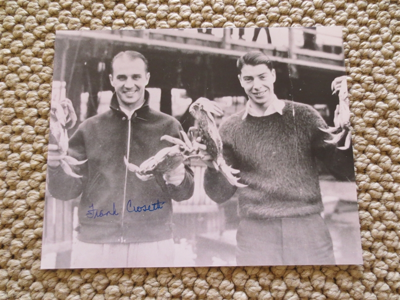
<path fill-rule="evenodd" d="M 186 160 L 200 157 L 201 155 L 197 154 L 198 150 L 192 144 L 186 133 L 184 131 L 181 131 L 180 133 L 184 141 L 169 135 L 162 136 L 160 140 L 168 141 L 175 145 L 161 149 L 156 155 L 141 163 L 140 166 L 129 163 L 128 159 L 124 157 L 128 169 L 131 172 L 136 172 L 140 179 L 148 180 L 157 173 L 164 174 L 177 168 Z"/>

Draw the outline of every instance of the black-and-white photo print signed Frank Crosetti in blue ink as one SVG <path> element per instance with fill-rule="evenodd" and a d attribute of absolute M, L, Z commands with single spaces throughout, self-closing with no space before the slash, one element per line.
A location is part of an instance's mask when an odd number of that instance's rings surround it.
<path fill-rule="evenodd" d="M 342 28 L 55 45 L 42 268 L 362 264 Z"/>

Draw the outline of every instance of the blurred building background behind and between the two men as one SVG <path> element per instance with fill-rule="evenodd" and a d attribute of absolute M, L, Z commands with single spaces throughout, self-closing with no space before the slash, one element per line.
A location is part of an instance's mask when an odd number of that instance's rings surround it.
<path fill-rule="evenodd" d="M 188 107 L 199 97 L 217 101 L 223 118 L 244 108 L 236 60 L 253 50 L 273 61 L 279 99 L 312 105 L 333 126 L 338 98 L 332 95 L 331 82 L 345 74 L 341 28 L 61 31 L 56 36 L 53 80 L 66 82 L 67 98 L 78 115 L 69 136 L 81 122 L 109 109 L 110 62 L 126 50 L 138 51 L 149 61 L 150 107 L 176 117 L 185 131 L 194 125 Z M 205 166 L 193 162 L 192 168 L 194 196 L 174 203 L 176 265 L 235 264 L 237 199 L 233 196 L 223 205 L 211 201 L 203 189 Z M 321 168 L 321 192 L 336 262 L 349 263 L 361 251 L 355 184 L 337 181 Z M 56 267 L 65 267 L 76 205 L 50 197 L 46 205 L 44 251 Z"/>

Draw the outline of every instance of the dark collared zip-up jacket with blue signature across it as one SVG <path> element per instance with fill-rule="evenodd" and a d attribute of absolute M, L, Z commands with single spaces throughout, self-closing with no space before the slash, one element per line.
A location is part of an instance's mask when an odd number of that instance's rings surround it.
<path fill-rule="evenodd" d="M 193 194 L 193 171 L 185 166 L 179 186 L 162 176 L 140 180 L 124 163 L 140 165 L 159 150 L 172 146 L 163 135 L 179 138 L 181 125 L 145 103 L 129 119 L 116 95 L 111 110 L 84 121 L 69 142 L 68 154 L 86 163 L 74 166 L 82 178 L 49 167 L 48 187 L 61 200 L 80 198 L 78 239 L 93 243 L 151 242 L 172 237 L 172 201 Z"/>

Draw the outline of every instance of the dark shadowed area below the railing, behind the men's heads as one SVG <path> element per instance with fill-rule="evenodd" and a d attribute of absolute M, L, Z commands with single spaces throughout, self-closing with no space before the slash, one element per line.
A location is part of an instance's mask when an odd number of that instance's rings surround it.
<path fill-rule="evenodd" d="M 151 74 L 147 87 L 161 89 L 160 110 L 164 113 L 171 114 L 172 88 L 185 89 L 193 100 L 245 96 L 237 78 L 235 57 L 93 39 L 59 39 L 56 49 L 59 48 L 64 51 L 56 51 L 54 80 L 67 82 L 67 98 L 72 100 L 78 115 L 82 93 L 90 94 L 87 117 L 91 117 L 96 114 L 97 93 L 113 91 L 109 81 L 110 63 L 116 54 L 126 50 L 138 51 L 147 58 Z M 99 63 L 105 68 L 99 68 Z M 63 65 L 67 66 L 64 70 Z M 343 72 L 306 66 L 297 66 L 291 71 L 290 65 L 280 62 L 274 62 L 274 68 L 277 74 L 275 93 L 279 99 L 309 105 L 326 104 L 330 112 L 334 111 L 338 99 L 337 95 L 332 95 L 330 85 Z M 333 113 L 325 119 L 333 126 Z M 184 123 L 184 119 L 180 121 Z"/>

